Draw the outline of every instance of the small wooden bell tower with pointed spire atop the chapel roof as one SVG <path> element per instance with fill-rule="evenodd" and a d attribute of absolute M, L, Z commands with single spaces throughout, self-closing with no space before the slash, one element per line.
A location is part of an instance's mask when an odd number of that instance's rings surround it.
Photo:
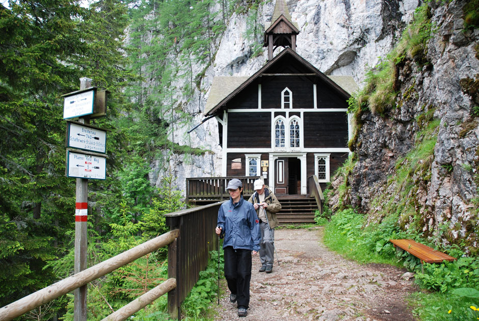
<path fill-rule="evenodd" d="M 285 0 L 276 0 L 272 23 L 264 31 L 264 47 L 268 47 L 268 60 L 273 59 L 277 47 L 290 47 L 296 52 L 296 35 L 298 24 L 291 22 L 291 15 Z"/>

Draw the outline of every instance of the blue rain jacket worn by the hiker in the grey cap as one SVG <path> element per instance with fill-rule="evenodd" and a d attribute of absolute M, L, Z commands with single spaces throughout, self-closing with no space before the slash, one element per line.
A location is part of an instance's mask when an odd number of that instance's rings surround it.
<path fill-rule="evenodd" d="M 223 249 L 233 246 L 233 249 L 259 251 L 259 220 L 253 204 L 245 201 L 241 196 L 240 202 L 233 204 L 233 200 L 225 202 L 218 211 L 218 226 L 225 234 Z"/>

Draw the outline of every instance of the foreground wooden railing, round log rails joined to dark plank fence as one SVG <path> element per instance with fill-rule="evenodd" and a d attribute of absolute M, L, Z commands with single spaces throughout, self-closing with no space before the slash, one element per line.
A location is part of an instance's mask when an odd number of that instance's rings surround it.
<path fill-rule="evenodd" d="M 0 321 L 14 319 L 166 245 L 168 280 L 102 321 L 124 320 L 166 292 L 171 316 L 180 318 L 181 302 L 198 281 L 199 272 L 206 268 L 209 251 L 218 247 L 215 227 L 220 205 L 216 203 L 166 214 L 170 232 L 0 308 Z"/>

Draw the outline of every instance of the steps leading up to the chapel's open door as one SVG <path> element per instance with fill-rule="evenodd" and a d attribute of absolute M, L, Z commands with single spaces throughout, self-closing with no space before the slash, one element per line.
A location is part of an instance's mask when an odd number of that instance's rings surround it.
<path fill-rule="evenodd" d="M 280 225 L 297 225 L 314 223 L 317 210 L 314 197 L 305 195 L 276 195 L 281 203 L 281 211 L 276 215 Z"/>

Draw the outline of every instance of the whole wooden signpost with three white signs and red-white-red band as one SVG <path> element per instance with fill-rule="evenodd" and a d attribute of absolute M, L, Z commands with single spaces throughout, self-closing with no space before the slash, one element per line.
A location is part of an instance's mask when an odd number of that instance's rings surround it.
<path fill-rule="evenodd" d="M 65 143 L 67 177 L 76 178 L 74 273 L 87 268 L 88 180 L 107 177 L 107 132 L 90 126 L 90 118 L 106 114 L 107 92 L 91 87 L 92 80 L 80 79 L 80 90 L 63 95 L 63 118 L 67 121 Z M 73 149 L 83 150 L 82 152 Z M 101 153 L 101 154 L 99 154 Z M 87 286 L 74 290 L 74 321 L 87 321 Z"/>

